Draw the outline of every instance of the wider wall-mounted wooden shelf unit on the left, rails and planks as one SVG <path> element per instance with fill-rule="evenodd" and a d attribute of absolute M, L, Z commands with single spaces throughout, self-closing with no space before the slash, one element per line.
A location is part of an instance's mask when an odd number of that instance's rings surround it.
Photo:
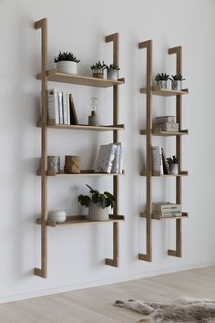
<path fill-rule="evenodd" d="M 41 80 L 41 102 L 42 102 L 42 119 L 37 122 L 37 127 L 41 128 L 41 217 L 36 220 L 41 226 L 41 267 L 35 268 L 35 275 L 46 278 L 47 276 L 47 227 L 48 226 L 65 226 L 68 224 L 98 224 L 100 222 L 87 221 L 84 215 L 67 216 L 67 221 L 63 224 L 47 219 L 47 177 L 55 175 L 69 176 L 110 176 L 113 180 L 113 194 L 116 199 L 116 206 L 113 208 L 113 215 L 109 215 L 109 220 L 106 224 L 113 224 L 113 258 L 106 259 L 107 266 L 119 266 L 119 223 L 124 221 L 123 215 L 118 215 L 119 212 L 119 174 L 117 173 L 96 173 L 89 170 L 82 171 L 80 174 L 53 174 L 47 172 L 47 129 L 56 130 L 96 130 L 96 131 L 112 131 L 113 143 L 119 141 L 119 130 L 124 130 L 124 125 L 119 123 L 119 85 L 124 84 L 125 79 L 119 78 L 117 81 L 110 79 L 90 78 L 79 75 L 69 75 L 56 73 L 55 69 L 48 70 L 47 68 L 47 19 L 41 19 L 35 23 L 36 29 L 41 29 L 41 73 L 37 74 L 36 78 Z M 113 64 L 119 66 L 119 35 L 118 33 L 109 35 L 105 38 L 107 43 L 113 43 Z M 87 87 L 97 88 L 113 88 L 113 125 L 88 126 L 79 125 L 56 125 L 52 120 L 47 120 L 47 84 L 48 81 L 62 82 L 68 84 L 77 84 Z"/>

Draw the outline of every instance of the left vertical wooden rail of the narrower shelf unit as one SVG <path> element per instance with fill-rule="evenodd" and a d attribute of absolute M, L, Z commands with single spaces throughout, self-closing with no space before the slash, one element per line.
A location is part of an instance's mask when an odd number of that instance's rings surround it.
<path fill-rule="evenodd" d="M 146 161 L 146 184 L 147 184 L 147 217 L 146 217 L 146 254 L 138 254 L 138 259 L 152 261 L 152 40 L 138 44 L 138 48 L 147 48 L 147 161 Z"/>

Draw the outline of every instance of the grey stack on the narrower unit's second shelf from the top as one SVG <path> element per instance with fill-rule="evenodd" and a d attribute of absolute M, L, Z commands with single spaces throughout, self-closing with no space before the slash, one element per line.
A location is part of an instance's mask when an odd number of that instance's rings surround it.
<path fill-rule="evenodd" d="M 179 123 L 176 122 L 175 116 L 156 117 L 155 124 L 153 125 L 153 130 L 178 132 L 179 131 Z"/>

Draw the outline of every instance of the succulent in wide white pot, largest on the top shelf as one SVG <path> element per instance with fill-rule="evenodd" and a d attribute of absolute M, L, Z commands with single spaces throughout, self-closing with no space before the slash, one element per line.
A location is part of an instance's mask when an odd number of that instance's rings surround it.
<path fill-rule="evenodd" d="M 79 59 L 71 52 L 59 52 L 57 57 L 54 57 L 56 63 L 56 72 L 65 74 L 77 74 L 77 63 Z"/>

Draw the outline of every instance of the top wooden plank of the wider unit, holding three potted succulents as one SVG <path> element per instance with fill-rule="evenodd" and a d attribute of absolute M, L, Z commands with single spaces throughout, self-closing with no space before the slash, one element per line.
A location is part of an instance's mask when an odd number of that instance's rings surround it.
<path fill-rule="evenodd" d="M 46 75 L 47 80 L 52 82 L 85 85 L 87 87 L 110 88 L 125 83 L 125 78 L 118 78 L 117 81 L 112 79 L 91 78 L 77 74 L 56 73 L 55 68 L 47 70 Z M 42 79 L 41 73 L 37 74 L 36 78 Z"/>

